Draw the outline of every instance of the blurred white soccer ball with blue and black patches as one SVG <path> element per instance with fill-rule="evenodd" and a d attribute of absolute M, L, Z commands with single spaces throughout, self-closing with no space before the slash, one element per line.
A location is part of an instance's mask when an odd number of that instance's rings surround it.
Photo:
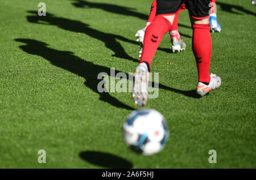
<path fill-rule="evenodd" d="M 153 109 L 132 112 L 123 123 L 123 137 L 131 149 L 153 155 L 164 148 L 169 130 L 163 115 Z"/>

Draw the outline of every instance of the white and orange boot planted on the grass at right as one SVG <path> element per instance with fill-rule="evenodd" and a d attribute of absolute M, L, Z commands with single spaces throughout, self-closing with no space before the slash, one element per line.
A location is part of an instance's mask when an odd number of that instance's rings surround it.
<path fill-rule="evenodd" d="M 210 73 L 210 83 L 206 85 L 204 83 L 199 82 L 196 87 L 197 94 L 204 96 L 210 91 L 214 89 L 218 89 L 221 85 L 221 78 L 216 74 Z"/>

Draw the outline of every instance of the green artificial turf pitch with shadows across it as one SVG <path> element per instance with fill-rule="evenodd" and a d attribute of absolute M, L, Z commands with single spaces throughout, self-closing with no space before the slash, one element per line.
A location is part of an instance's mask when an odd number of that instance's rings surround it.
<path fill-rule="evenodd" d="M 256 168 L 255 29 L 250 1 L 217 2 L 210 71 L 221 87 L 199 98 L 188 12 L 179 16 L 187 50 L 170 53 L 165 35 L 152 62 L 159 97 L 146 108 L 167 119 L 170 139 L 142 156 L 123 142 L 122 124 L 137 108 L 131 93 L 99 93 L 99 72 L 134 72 L 135 33 L 148 0 L 0 1 L 0 168 Z M 170 65 L 170 62 L 172 65 Z M 116 80 L 116 83 L 119 80 Z M 128 83 L 128 82 L 127 82 Z M 46 164 L 38 163 L 39 149 Z M 208 151 L 217 151 L 217 163 Z"/>

